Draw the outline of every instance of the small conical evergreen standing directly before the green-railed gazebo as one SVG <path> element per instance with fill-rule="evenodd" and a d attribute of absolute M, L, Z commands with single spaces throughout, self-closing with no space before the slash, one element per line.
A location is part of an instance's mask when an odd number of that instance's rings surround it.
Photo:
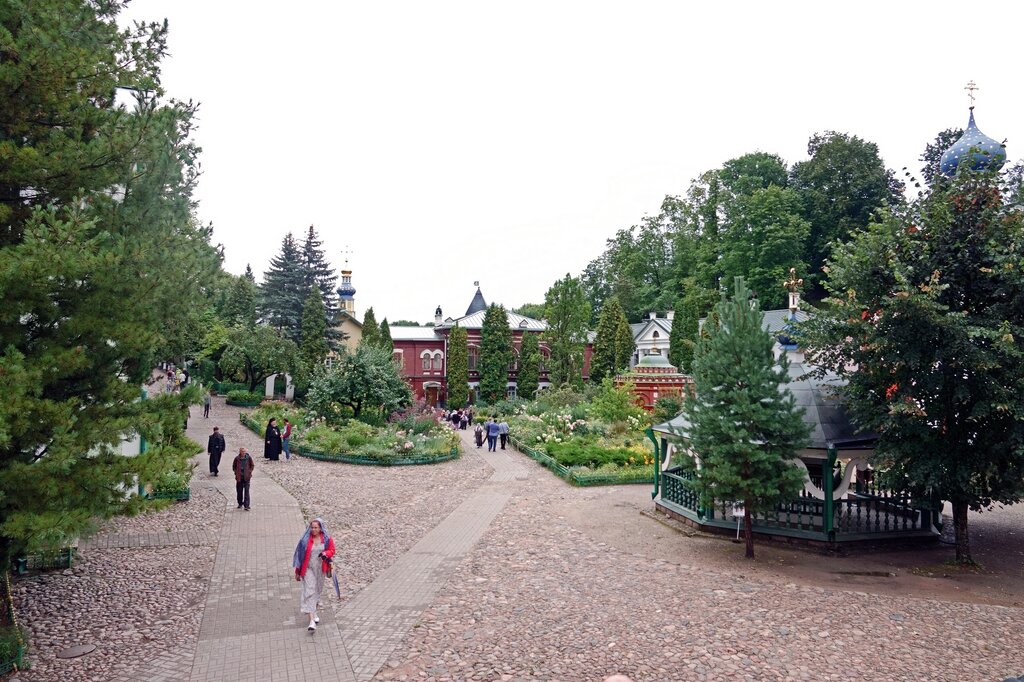
<path fill-rule="evenodd" d="M 796 496 L 804 481 L 793 466 L 810 436 L 803 410 L 786 390 L 788 361 L 775 360 L 774 340 L 761 329 L 763 314 L 750 301 L 742 278 L 732 300 L 715 307 L 719 324 L 706 325 L 708 338 L 693 360 L 695 394 L 683 401 L 689 422 L 687 446 L 700 460 L 694 487 L 701 504 L 732 502 L 743 507 L 746 558 L 754 558 L 752 515 L 772 513 Z"/>

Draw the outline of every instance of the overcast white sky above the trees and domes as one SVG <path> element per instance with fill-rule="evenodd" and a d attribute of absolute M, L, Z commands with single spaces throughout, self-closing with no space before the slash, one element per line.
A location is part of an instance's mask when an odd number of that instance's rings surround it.
<path fill-rule="evenodd" d="M 200 217 L 261 279 L 288 231 L 353 251 L 361 315 L 540 302 L 616 229 L 748 152 L 816 131 L 890 168 L 978 126 L 1024 148 L 1016 3 L 134 0 L 201 102 Z"/>

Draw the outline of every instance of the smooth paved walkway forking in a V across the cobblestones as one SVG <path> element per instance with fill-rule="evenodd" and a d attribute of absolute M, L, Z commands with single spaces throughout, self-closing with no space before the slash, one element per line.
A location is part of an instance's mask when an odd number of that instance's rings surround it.
<path fill-rule="evenodd" d="M 216 414 L 222 404 L 219 400 L 214 403 L 210 420 L 191 420 L 193 438 L 206 442 L 206 431 L 214 418 L 224 418 L 223 413 Z M 216 478 L 202 473 L 206 457 L 201 455 L 201 473 L 194 485 L 214 487 L 224 498 L 224 520 L 218 537 L 213 539 L 217 554 L 203 625 L 195 651 L 176 651 L 153 660 L 150 681 L 373 678 L 505 507 L 516 481 L 529 475 L 511 449 L 478 451 L 471 442 L 471 432 L 460 435 L 464 457 L 481 457 L 493 467 L 489 480 L 341 606 L 337 622 L 333 610 L 325 608 L 319 628 L 312 635 L 302 627 L 304 616 L 298 610 L 300 585 L 291 568 L 292 552 L 305 520 L 298 502 L 266 474 L 266 466 L 261 466 L 262 442 L 250 434 L 248 441 L 232 443 L 232 449 L 239 444 L 248 447 L 256 460 L 253 504 L 248 512 L 236 505 L 229 467 L 237 451 L 225 453 L 221 475 Z M 208 535 L 161 534 L 161 539 L 154 539 L 152 544 L 209 544 Z M 111 547 L 151 544 L 140 536 L 111 536 L 104 543 Z"/>

